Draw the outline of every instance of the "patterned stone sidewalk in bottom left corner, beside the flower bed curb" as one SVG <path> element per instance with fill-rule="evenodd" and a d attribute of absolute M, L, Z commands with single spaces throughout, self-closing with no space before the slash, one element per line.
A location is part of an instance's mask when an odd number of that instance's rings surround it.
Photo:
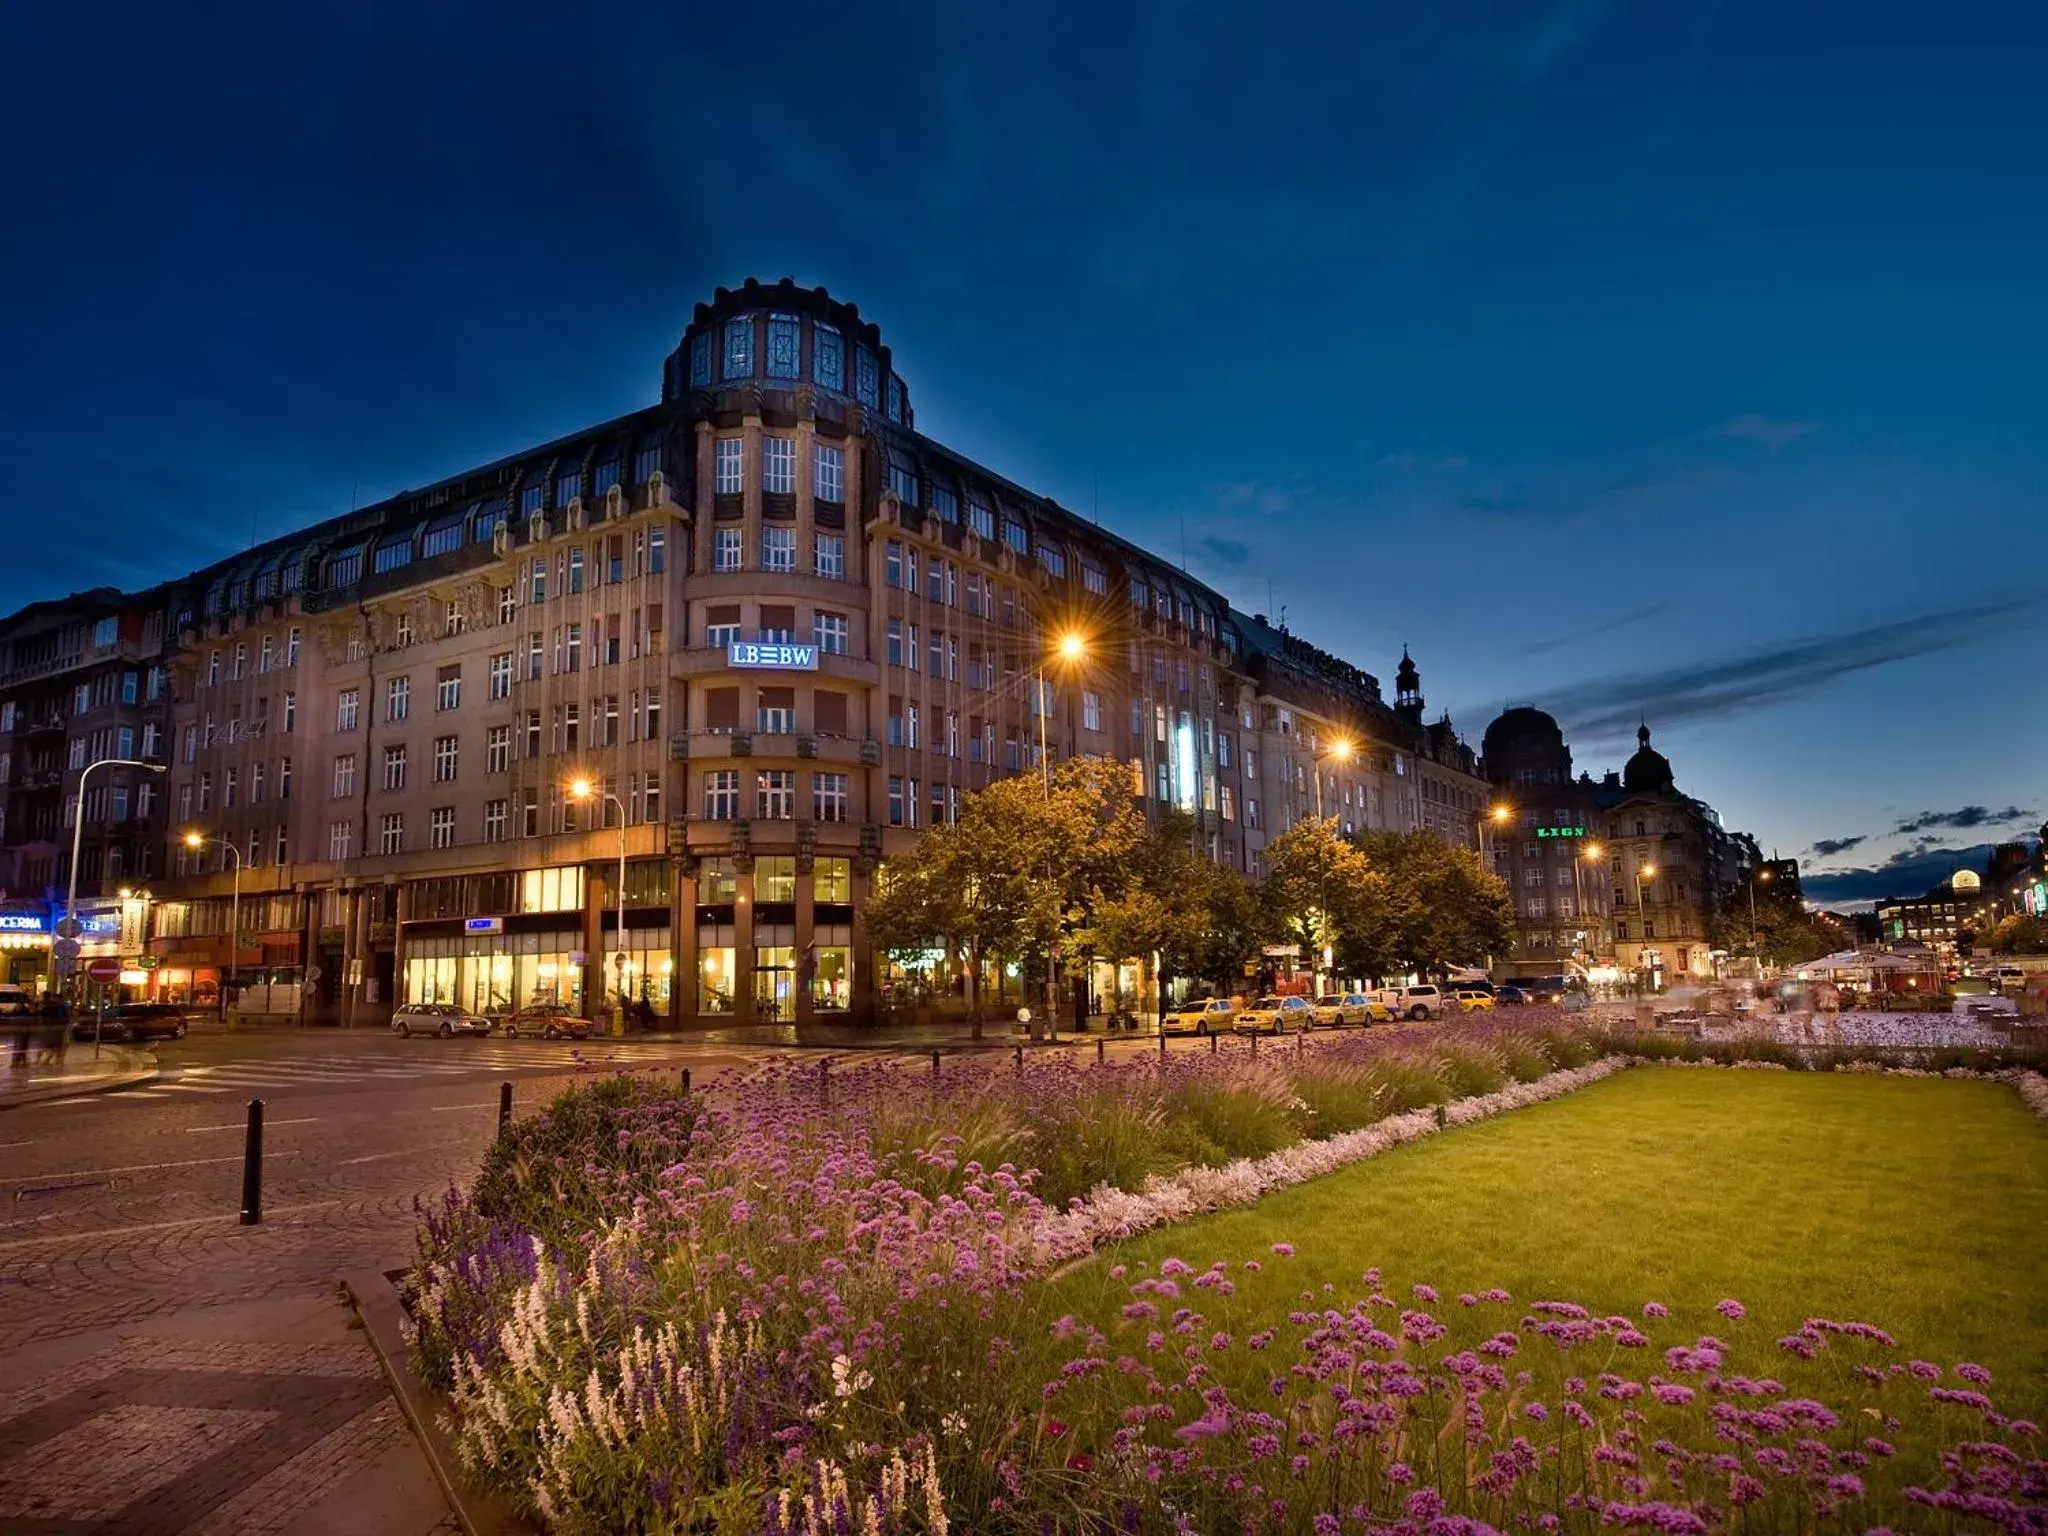
<path fill-rule="evenodd" d="M 0 1532 L 457 1536 L 338 1286 L 41 1339 L 0 1389 Z"/>

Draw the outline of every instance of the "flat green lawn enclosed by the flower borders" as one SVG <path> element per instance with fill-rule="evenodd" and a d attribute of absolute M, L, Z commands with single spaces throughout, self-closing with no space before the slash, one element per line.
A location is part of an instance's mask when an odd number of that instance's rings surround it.
<path fill-rule="evenodd" d="M 1276 1241 L 1296 1255 L 1272 1257 Z M 1909 1358 L 1989 1366 L 2005 1411 L 2048 1417 L 2048 1124 L 2003 1083 L 1628 1071 L 1126 1243 L 1055 1282 L 1047 1315 L 1114 1315 L 1128 1292 L 1108 1266 L 1167 1255 L 1264 1260 L 1204 1303 L 1223 1325 L 1284 1317 L 1323 1282 L 1352 1300 L 1370 1264 L 1403 1300 L 1415 1282 L 1446 1303 L 1487 1286 L 1595 1313 L 1661 1300 L 1661 1339 L 1866 1321 Z M 1749 1319 L 1712 1315 L 1722 1296 Z"/>

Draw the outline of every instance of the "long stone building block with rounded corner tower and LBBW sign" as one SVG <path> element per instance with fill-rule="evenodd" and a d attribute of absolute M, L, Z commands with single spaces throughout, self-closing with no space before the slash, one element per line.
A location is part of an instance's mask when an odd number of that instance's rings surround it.
<path fill-rule="evenodd" d="M 854 305 L 719 289 L 659 377 L 147 594 L 0 621 L 0 866 L 47 899 L 82 813 L 80 891 L 147 874 L 168 999 L 803 1022 L 944 981 L 866 944 L 874 870 L 1042 754 L 1126 760 L 1247 872 L 1317 786 L 1354 829 L 1473 838 L 1485 782 L 1413 662 L 1389 707 L 924 436 Z M 129 727 L 166 772 L 80 805 Z M 1348 766 L 1317 760 L 1337 731 Z"/>

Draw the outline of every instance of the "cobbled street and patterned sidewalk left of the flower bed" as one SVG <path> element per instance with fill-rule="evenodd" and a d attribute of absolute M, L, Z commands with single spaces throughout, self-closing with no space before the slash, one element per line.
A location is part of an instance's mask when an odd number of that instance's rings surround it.
<path fill-rule="evenodd" d="M 158 1055 L 215 1092 L 0 1114 L 0 1532 L 453 1536 L 336 1278 L 412 1255 L 414 1200 L 475 1171 L 500 1079 L 526 1112 L 596 1071 L 711 1081 L 774 1053 L 299 1032 Z"/>

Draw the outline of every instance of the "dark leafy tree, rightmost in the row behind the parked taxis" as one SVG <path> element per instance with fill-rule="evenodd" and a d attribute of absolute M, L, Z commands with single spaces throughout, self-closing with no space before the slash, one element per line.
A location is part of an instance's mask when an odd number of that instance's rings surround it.
<path fill-rule="evenodd" d="M 1516 907 L 1507 883 L 1470 848 L 1434 831 L 1362 831 L 1354 842 L 1386 881 L 1386 926 L 1370 958 L 1393 961 L 1360 975 L 1399 969 L 1442 977 L 1454 965 L 1505 954 Z"/>

